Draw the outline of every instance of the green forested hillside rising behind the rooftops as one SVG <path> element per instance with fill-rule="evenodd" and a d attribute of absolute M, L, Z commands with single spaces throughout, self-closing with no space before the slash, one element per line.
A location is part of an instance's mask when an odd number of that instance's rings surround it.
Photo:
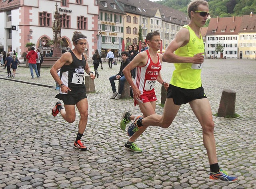
<path fill-rule="evenodd" d="M 206 0 L 209 3 L 211 17 L 230 17 L 256 14 L 256 0 Z M 163 0 L 159 4 L 187 12 L 190 0 Z"/>

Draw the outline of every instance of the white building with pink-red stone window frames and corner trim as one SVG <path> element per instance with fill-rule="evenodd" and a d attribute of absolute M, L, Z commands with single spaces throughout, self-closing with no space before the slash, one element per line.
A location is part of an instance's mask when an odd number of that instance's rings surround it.
<path fill-rule="evenodd" d="M 43 53 L 51 49 L 52 21 L 56 4 L 61 15 L 62 47 L 73 48 L 74 31 L 87 36 L 88 57 L 92 57 L 97 43 L 99 7 L 93 0 L 1 0 L 0 51 L 15 50 L 18 57 L 28 50 L 26 43 L 42 47 Z M 40 43 L 42 45 L 40 46 Z"/>

